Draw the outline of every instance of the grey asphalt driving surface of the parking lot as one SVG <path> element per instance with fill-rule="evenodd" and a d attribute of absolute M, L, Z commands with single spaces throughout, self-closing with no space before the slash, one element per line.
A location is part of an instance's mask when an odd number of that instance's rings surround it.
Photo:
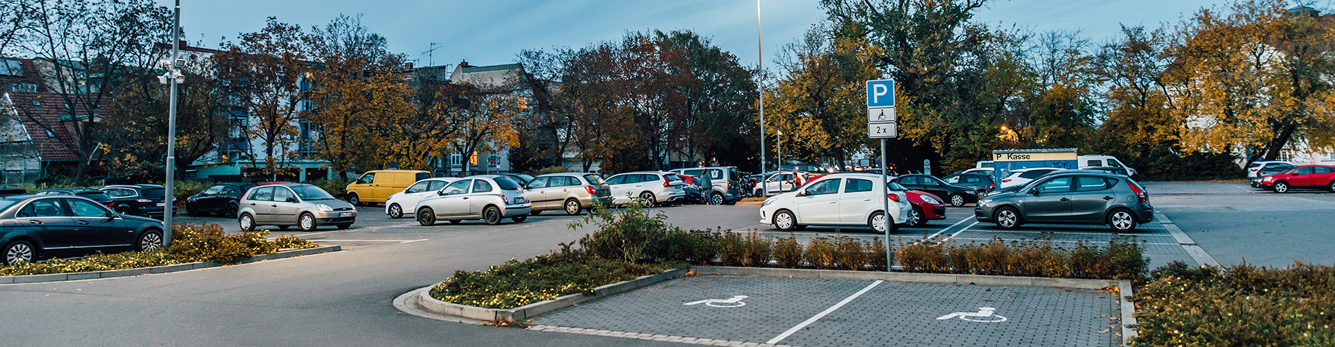
<path fill-rule="evenodd" d="M 1335 194 L 1278 195 L 1234 183 L 1147 183 L 1151 200 L 1189 238 L 1224 264 L 1284 266 L 1292 259 L 1335 263 L 1331 236 Z M 280 231 L 344 251 L 252 264 L 135 278 L 0 286 L 0 342 L 4 346 L 665 346 L 666 343 L 447 323 L 400 314 L 394 298 L 431 286 L 455 270 L 482 270 L 525 259 L 577 240 L 589 230 L 570 230 L 575 218 L 542 215 L 526 223 L 479 222 L 421 227 L 391 220 L 382 208 L 362 208 L 344 231 Z M 655 208 L 682 228 L 756 230 L 757 207 L 685 206 Z M 893 238 L 1025 239 L 1053 232 L 1063 242 L 1097 242 L 1111 235 L 1099 226 L 1025 226 L 1025 232 L 996 232 L 973 224 L 972 207 L 948 208 L 951 219 L 926 228 L 901 228 Z M 215 222 L 231 231 L 231 219 Z M 1143 226 L 1152 262 L 1187 259 L 1179 246 Z M 870 240 L 869 230 L 840 232 Z M 1035 234 L 1039 232 L 1039 234 Z M 1063 234 L 1057 234 L 1063 232 Z M 834 228 L 796 232 L 800 239 L 834 235 Z M 1032 236 L 1028 236 L 1032 239 Z M 1165 243 L 1165 244 L 1155 244 Z M 1188 262 L 1188 264 L 1195 264 Z M 959 310 L 967 310 L 961 307 Z M 1005 315 L 997 312 L 999 315 Z M 905 332 L 905 334 L 913 334 Z"/>

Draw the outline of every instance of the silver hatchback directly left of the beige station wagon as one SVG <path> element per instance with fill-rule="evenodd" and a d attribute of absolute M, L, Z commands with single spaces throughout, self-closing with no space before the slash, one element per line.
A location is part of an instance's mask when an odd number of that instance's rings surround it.
<path fill-rule="evenodd" d="M 423 198 L 413 210 L 422 226 L 437 220 L 459 223 L 482 219 L 487 224 L 501 224 L 502 219 L 523 223 L 533 210 L 529 195 L 510 176 L 467 176 L 445 186 L 435 196 Z"/>

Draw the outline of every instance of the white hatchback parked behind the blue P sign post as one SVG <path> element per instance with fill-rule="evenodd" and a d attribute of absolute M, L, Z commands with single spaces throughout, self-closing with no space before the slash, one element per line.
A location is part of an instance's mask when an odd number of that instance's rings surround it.
<path fill-rule="evenodd" d="M 765 199 L 760 207 L 760 223 L 773 224 L 780 231 L 805 226 L 865 226 L 885 232 L 881 176 L 868 174 L 832 174 L 802 186 L 796 192 Z M 877 188 L 880 187 L 880 188 Z M 909 220 L 908 195 L 889 191 L 890 231 Z"/>

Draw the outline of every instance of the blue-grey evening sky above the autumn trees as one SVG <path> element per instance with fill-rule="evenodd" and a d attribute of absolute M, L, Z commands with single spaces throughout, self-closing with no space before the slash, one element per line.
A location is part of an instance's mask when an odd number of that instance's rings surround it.
<path fill-rule="evenodd" d="M 171 1 L 158 0 L 171 5 Z M 976 20 L 992 27 L 1020 25 L 1035 32 L 1080 31 L 1092 43 L 1107 43 L 1120 25 L 1157 28 L 1216 1 L 1203 0 L 992 0 Z M 772 67 L 784 45 L 825 19 L 817 0 L 761 0 L 764 40 L 757 44 L 757 3 L 752 0 L 676 1 L 351 1 L 230 0 L 182 4 L 186 40 L 218 48 L 238 33 L 264 27 L 266 17 L 323 25 L 338 15 L 363 15 L 362 24 L 388 39 L 390 49 L 417 65 L 509 64 L 522 49 L 581 48 L 618 40 L 627 31 L 690 29 L 754 67 L 764 48 Z M 224 39 L 226 37 L 226 39 Z M 433 45 L 435 43 L 435 45 Z M 426 51 L 435 48 L 430 55 Z"/>

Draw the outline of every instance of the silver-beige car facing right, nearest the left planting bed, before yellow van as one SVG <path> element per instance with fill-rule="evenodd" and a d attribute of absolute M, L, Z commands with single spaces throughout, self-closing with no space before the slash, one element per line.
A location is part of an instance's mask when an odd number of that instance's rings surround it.
<path fill-rule="evenodd" d="M 240 200 L 236 222 L 242 231 L 258 226 L 291 226 L 314 231 L 320 226 L 346 230 L 356 222 L 356 207 L 311 184 L 282 183 L 251 188 Z"/>

